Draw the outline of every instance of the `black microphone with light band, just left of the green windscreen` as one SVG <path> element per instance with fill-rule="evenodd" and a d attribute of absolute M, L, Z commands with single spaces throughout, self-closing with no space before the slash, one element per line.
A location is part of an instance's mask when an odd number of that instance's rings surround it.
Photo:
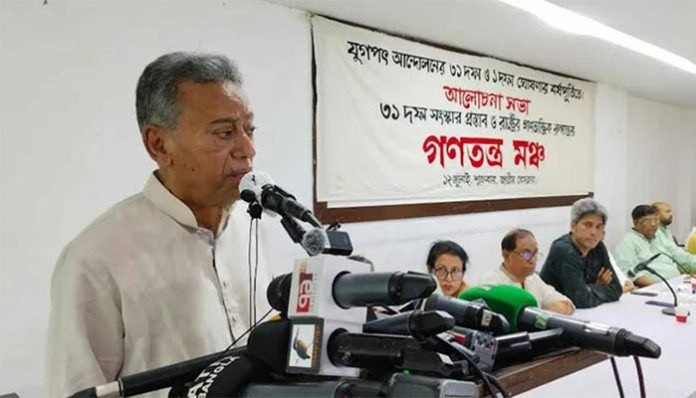
<path fill-rule="evenodd" d="M 503 316 L 489 310 L 481 302 L 465 301 L 433 294 L 425 300 L 423 309 L 426 311 L 445 311 L 454 317 L 454 322 L 457 326 L 490 332 L 494 335 L 510 331 L 508 321 Z"/>

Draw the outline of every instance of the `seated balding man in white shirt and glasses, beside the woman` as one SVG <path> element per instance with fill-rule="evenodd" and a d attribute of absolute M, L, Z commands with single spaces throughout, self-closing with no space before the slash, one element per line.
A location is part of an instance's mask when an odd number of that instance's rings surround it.
<path fill-rule="evenodd" d="M 558 293 L 553 286 L 547 285 L 534 273 L 541 253 L 531 231 L 513 229 L 505 234 L 500 248 L 503 263 L 495 272 L 484 278 L 483 283 L 519 286 L 536 298 L 539 308 L 548 311 L 566 315 L 575 311 L 575 306 L 568 297 Z"/>

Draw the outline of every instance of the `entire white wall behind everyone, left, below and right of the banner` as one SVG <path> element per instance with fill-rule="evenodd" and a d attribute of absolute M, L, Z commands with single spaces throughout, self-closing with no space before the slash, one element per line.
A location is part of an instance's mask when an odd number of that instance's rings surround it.
<path fill-rule="evenodd" d="M 42 395 L 49 282 L 59 251 L 98 214 L 139 191 L 153 168 L 134 112 L 136 80 L 147 62 L 177 49 L 236 59 L 259 126 L 257 168 L 301 202 L 312 200 L 306 15 L 251 0 L 42 3 L 0 2 L 0 394 L 24 397 Z M 634 201 L 652 201 L 658 193 L 679 217 L 696 213 L 693 189 L 670 178 L 680 171 L 664 162 L 684 166 L 693 158 L 684 143 L 696 117 L 602 85 L 596 108 L 595 192 L 610 212 L 607 241 L 627 228 Z M 660 128 L 649 128 L 653 122 Z M 652 135 L 657 130 L 668 135 Z M 669 150 L 656 158 L 660 168 L 634 165 L 638 153 L 657 156 L 664 141 Z M 646 178 L 659 181 L 638 181 Z M 380 270 L 423 269 L 430 242 L 455 239 L 471 257 L 467 279 L 476 281 L 497 266 L 500 239 L 514 226 L 533 230 L 547 251 L 568 230 L 568 207 L 344 229 Z M 280 227 L 274 232 L 272 265 L 279 273 L 302 253 Z"/>

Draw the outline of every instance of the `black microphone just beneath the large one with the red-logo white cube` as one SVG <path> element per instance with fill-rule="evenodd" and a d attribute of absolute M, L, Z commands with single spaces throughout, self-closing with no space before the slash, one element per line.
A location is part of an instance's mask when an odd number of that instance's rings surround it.
<path fill-rule="evenodd" d="M 425 340 L 454 327 L 454 318 L 444 311 L 413 310 L 367 322 L 363 332 L 398 334 Z"/>

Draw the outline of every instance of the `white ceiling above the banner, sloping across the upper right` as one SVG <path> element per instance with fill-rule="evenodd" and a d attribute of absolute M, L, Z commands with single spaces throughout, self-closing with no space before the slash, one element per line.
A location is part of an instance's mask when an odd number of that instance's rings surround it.
<path fill-rule="evenodd" d="M 696 107 L 696 75 L 616 45 L 565 33 L 495 0 L 268 0 L 494 56 L 631 94 Z M 696 0 L 552 0 L 696 62 Z"/>

